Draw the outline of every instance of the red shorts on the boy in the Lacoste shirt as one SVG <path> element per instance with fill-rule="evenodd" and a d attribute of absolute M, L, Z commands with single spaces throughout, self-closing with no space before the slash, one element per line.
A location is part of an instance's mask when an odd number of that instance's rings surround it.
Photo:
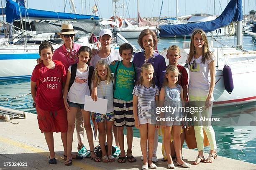
<path fill-rule="evenodd" d="M 47 111 L 36 107 L 37 121 L 39 129 L 45 132 L 67 132 L 67 112 L 66 109 Z"/>

